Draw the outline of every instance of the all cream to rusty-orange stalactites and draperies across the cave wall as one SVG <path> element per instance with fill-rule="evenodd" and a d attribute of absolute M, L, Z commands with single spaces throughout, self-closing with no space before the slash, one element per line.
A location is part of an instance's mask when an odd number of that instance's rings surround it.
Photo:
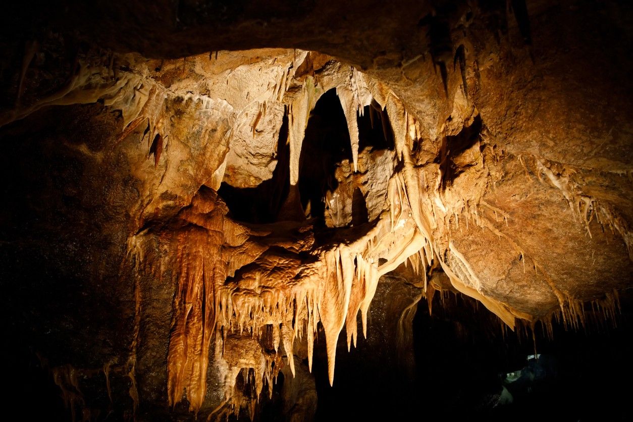
<path fill-rule="evenodd" d="M 227 165 L 226 160 L 220 160 L 217 166 L 208 169 L 211 177 L 197 190 L 191 204 L 170 216 L 168 221 L 152 221 L 151 217 L 144 216 L 142 229 L 128 241 L 128 256 L 134 258 L 139 273 L 149 271 L 160 280 L 161 268 L 172 269 L 175 295 L 167 359 L 167 393 L 172 406 L 186 397 L 191 411 L 201 409 L 213 354 L 213 362 L 223 373 L 225 400 L 232 400 L 235 411 L 242 406 L 252 407 L 252 400 L 244 403 L 246 397 L 235 391 L 237 376 L 242 374 L 244 380 L 254 382 L 256 397 L 265 383 L 268 392 L 272 392 L 274 379 L 284 364 L 282 357 L 285 356 L 294 374 L 293 349 L 298 338 L 306 339 L 311 369 L 319 324 L 325 332 L 329 380 L 333 383 L 336 344 L 342 329 L 346 330 L 349 349 L 358 338 L 356 321 L 360 312 L 363 334 L 367 335 L 367 314 L 379 278 L 403 263 L 411 263 L 417 270 L 418 285 L 423 294 L 430 297 L 429 307 L 433 292 L 441 290 L 430 282 L 429 276 L 432 271 L 441 270 L 448 276 L 451 289 L 477 299 L 511 329 L 515 328 L 517 318 L 532 325 L 537 321 L 536 317 L 489 297 L 480 288 L 480 275 L 450 239 L 451 227 L 459 228 L 461 219 L 462 224 L 477 225 L 505 239 L 523 266 L 530 259 L 517 242 L 492 223 L 493 217 L 496 222 L 508 216 L 482 199 L 487 187 L 487 168 L 499 160 L 498 152 L 483 140 L 485 130 L 481 130 L 482 135 L 473 147 L 475 158 L 468 163 L 479 169 L 480 177 L 473 178 L 466 196 L 451 187 L 451 172 L 456 164 L 446 145 L 446 135 L 441 136 L 443 142 L 437 148 L 437 157 L 420 163 L 415 152 L 417 147 L 432 141 L 423 137 L 420 122 L 408 113 L 403 101 L 387 85 L 334 60 L 324 61 L 320 72 L 312 69 L 306 73 L 305 63 L 314 67 L 312 54 L 295 52 L 290 65 L 280 74 L 280 80 L 268 84 L 265 94 L 256 100 L 258 112 L 249 118 L 249 132 L 255 136 L 258 124 L 265 118 L 268 102 L 280 102 L 287 109 L 291 194 L 280 215 L 289 216 L 290 221 L 249 227 L 227 216 L 229 209 L 216 194 Z M 463 49 L 460 54 L 462 57 Z M 465 80 L 464 61 L 460 59 Z M 466 90 L 465 82 L 463 85 Z M 390 152 L 391 174 L 384 175 L 389 182 L 378 217 L 362 227 L 345 228 L 334 239 L 317 244 L 313 228 L 309 221 L 301 218 L 304 210 L 292 192 L 296 192 L 299 182 L 301 148 L 310 112 L 323 92 L 332 88 L 336 89 L 348 124 L 354 171 L 358 170 L 360 145 L 357 118 L 365 107 L 370 106 L 372 121 L 378 114 L 384 127 L 385 122 L 389 122 L 394 151 Z M 211 118 L 212 113 L 230 108 L 226 101 L 191 93 L 175 94 L 140 72 L 112 80 L 109 71 L 85 65 L 63 92 L 28 109 L 17 109 L 3 116 L 0 125 L 46 105 L 101 99 L 105 106 L 122 110 L 119 139 L 122 141 L 135 133 L 140 135 L 147 144 L 147 157 L 153 155 L 156 168 L 166 149 L 169 129 L 168 119 L 164 118 L 165 102 L 170 97 L 189 101 L 198 111 L 211 113 Z M 466 95 L 463 100 L 468 102 Z M 465 127 L 481 125 L 474 106 L 470 107 L 470 113 Z M 201 137 L 206 135 L 203 133 Z M 492 164 L 484 166 L 484 158 Z M 536 169 L 532 171 L 541 181 L 549 180 L 561 190 L 573 215 L 587 228 L 589 235 L 589 223 L 595 218 L 603 227 L 622 235 L 633 256 L 629 227 L 607 204 L 585 195 L 562 166 L 537 157 L 520 159 L 526 169 L 528 166 Z M 440 225 L 448 230 L 439 230 Z M 150 239 L 160 239 L 166 245 L 166 252 L 149 250 Z M 582 303 L 558 289 L 534 259 L 531 266 L 535 273 L 542 275 L 560 304 L 560 311 L 553 315 L 570 328 L 584 326 L 587 318 Z M 135 289 L 137 294 L 138 289 Z M 128 365 L 133 384 L 130 395 L 135 404 L 138 401 L 134 379 L 140 324 L 138 303 L 137 297 L 134 352 Z M 605 319 L 613 318 L 617 293 L 609 293 L 605 302 L 594 303 Z M 549 327 L 551 331 L 551 325 Z M 59 381 L 58 385 L 65 391 L 66 401 L 74 409 L 79 400 L 76 376 L 70 370 L 61 369 L 55 374 L 56 382 Z"/>

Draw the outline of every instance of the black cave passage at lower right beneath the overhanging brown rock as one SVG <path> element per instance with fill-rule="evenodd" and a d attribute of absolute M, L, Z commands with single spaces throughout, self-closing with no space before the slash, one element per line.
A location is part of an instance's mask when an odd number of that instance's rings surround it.
<path fill-rule="evenodd" d="M 420 395 L 444 416 L 627 419 L 633 373 L 622 363 L 633 352 L 630 313 L 608 329 L 599 317 L 579 330 L 553 321 L 553 337 L 537 323 L 532 337 L 520 321 L 515 332 L 503 334 L 498 318 L 470 297 L 435 296 L 432 315 L 420 302 L 413 321 L 415 376 Z"/>

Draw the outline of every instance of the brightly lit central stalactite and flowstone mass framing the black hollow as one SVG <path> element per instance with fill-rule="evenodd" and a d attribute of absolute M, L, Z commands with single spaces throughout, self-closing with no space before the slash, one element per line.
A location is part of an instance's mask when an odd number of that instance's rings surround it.
<path fill-rule="evenodd" d="M 303 94 L 294 97 L 289 107 L 291 184 L 297 182 L 306 117 L 315 104 L 314 90 L 305 86 Z M 334 382 L 336 344 L 342 328 L 346 329 L 348 348 L 356 344 L 360 311 L 366 334 L 367 313 L 379 277 L 406 262 L 417 269 L 420 287 L 430 297 L 432 291 L 427 289 L 433 287 L 429 287 L 427 274 L 431 268 L 441 268 L 453 289 L 482 302 L 511 329 L 516 318 L 534 321 L 532 316 L 479 292 L 477 274 L 452 242 L 446 252 L 457 265 L 449 266 L 446 254 L 438 253 L 440 247 L 433 233 L 439 216 L 444 214 L 444 219 L 449 219 L 452 215 L 458 225 L 458 215 L 466 209 L 467 225 L 472 220 L 486 227 L 486 221 L 477 205 L 467 199 L 453 201 L 447 199 L 450 192 L 442 195 L 440 189 L 420 189 L 442 183 L 441 164 L 433 172 L 414 168 L 413 143 L 423 142 L 415 118 L 392 92 L 381 85 L 373 87 L 375 95 L 363 75 L 353 70 L 348 82 L 337 88 L 348 118 L 354 164 L 358 157 L 358 111 L 377 101 L 384 104 L 382 109 L 391 118 L 396 145 L 394 168 L 400 163 L 400 170 L 389 177 L 385 209 L 369 230 L 358 234 L 350 229 L 341 241 L 320 246 L 315 246 L 311 238 L 310 225 L 302 221 L 251 230 L 228 218 L 222 199 L 209 189 L 199 192 L 192 206 L 181 211 L 177 217 L 181 223 L 170 225 L 169 232 L 162 233 L 172 235 L 175 242 L 170 248 L 174 256 L 163 257 L 172 259 L 169 263 L 175 265 L 177 285 L 168 355 L 170 404 L 186 396 L 192 411 L 200 409 L 206 394 L 211 342 L 215 340 L 215 361 L 225 373 L 225 399 L 233 400 L 238 411 L 245 397 L 235 392 L 237 375 L 242 373 L 244 379 L 253 380 L 257 397 L 265 382 L 272 392 L 282 356 L 294 374 L 292 351 L 297 338 L 306 338 L 311 369 L 318 323 L 325 332 L 329 378 L 330 383 Z M 429 180 L 433 176 L 435 180 Z M 451 201 L 463 204 L 463 209 L 449 212 L 447 204 Z M 496 210 L 492 211 L 496 216 Z M 284 224 L 285 228 L 277 228 Z M 294 240 L 280 242 L 279 237 L 284 236 L 279 230 L 291 229 L 295 230 Z M 275 235 L 269 237 L 275 230 Z M 300 241 L 297 232 L 303 237 Z M 292 237 L 287 235 L 285 239 Z M 244 254 L 246 250 L 251 253 Z M 560 301 L 564 321 L 572 325 L 584 321 L 582 307 L 570 305 L 573 303 L 562 294 Z M 270 344 L 268 349 L 266 342 Z"/>

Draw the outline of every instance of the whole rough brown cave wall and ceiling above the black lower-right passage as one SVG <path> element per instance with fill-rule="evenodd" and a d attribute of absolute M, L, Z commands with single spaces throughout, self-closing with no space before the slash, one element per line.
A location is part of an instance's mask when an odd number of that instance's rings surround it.
<path fill-rule="evenodd" d="M 627 6 L 180 3 L 3 32 L 5 307 L 73 412 L 253 416 L 281 371 L 313 413 L 315 338 L 332 383 L 396 276 L 510 328 L 613 315 Z"/>

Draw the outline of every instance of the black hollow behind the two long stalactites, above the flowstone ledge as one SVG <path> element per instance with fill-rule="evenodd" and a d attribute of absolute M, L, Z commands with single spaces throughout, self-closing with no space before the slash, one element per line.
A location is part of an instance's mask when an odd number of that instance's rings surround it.
<path fill-rule="evenodd" d="M 357 115 L 359 153 L 370 157 L 374 151 L 394 149 L 393 132 L 387 112 L 379 104 L 365 106 Z M 237 188 L 222 182 L 218 194 L 227 202 L 230 216 L 247 223 L 273 223 L 289 194 L 290 150 L 287 144 L 288 116 L 284 115 L 277 140 L 277 166 L 273 177 L 257 187 Z M 371 159 L 371 158 L 370 158 Z M 315 219 L 317 228 L 325 228 L 326 197 L 341 183 L 348 183 L 352 203 L 352 225 L 368 222 L 365 197 L 353 174 L 346 180 L 337 178 L 337 169 L 351 166 L 352 151 L 348 125 L 335 89 L 325 92 L 310 113 L 299 158 L 299 197 L 307 218 Z M 372 170 L 369 170 L 372 171 Z M 351 171 L 348 172 L 351 173 Z M 389 175 L 380 175 L 388 178 Z"/>

